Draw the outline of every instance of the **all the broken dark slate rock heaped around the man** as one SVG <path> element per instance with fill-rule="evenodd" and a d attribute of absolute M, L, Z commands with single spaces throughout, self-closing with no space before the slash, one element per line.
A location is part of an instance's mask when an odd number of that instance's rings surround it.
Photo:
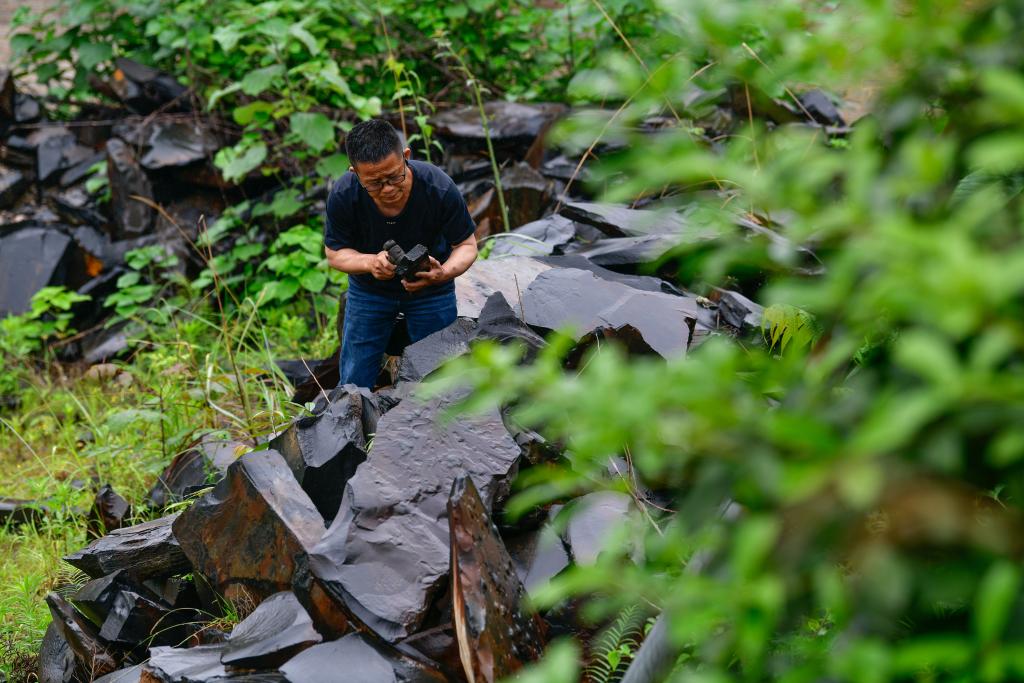
<path fill-rule="evenodd" d="M 109 126 L 46 124 L 9 77 L 0 90 L 10 118 L 3 162 L 18 167 L 3 170 L 13 189 L 0 200 L 9 207 L 34 193 L 17 209 L 25 217 L 0 227 L 0 314 L 24 310 L 47 284 L 110 291 L 127 249 L 176 244 L 180 231 L 132 196 L 174 208 L 179 226 L 191 224 L 191 209 L 210 216 L 223 207 L 229 188 L 209 163 L 225 143 L 216 126 L 197 123 L 187 92 L 166 75 L 119 67 L 108 87 L 138 116 L 120 111 Z M 842 132 L 818 95 L 801 111 L 754 104 L 774 125 Z M 694 95 L 706 99 L 710 135 L 732 125 L 731 96 Z M 493 102 L 487 112 L 511 231 L 496 209 L 475 110 L 433 121 L 478 237 L 495 242 L 456 282 L 458 319 L 414 344 L 398 340 L 398 360 L 375 390 L 336 387 L 336 357 L 280 361 L 309 414 L 258 444 L 194 443 L 141 503 L 171 514 L 126 526 L 132 505 L 99 489 L 89 512 L 98 538 L 66 558 L 88 582 L 46 597 L 53 622 L 40 681 L 492 682 L 581 628 L 573 609 L 537 613 L 523 598 L 594 562 L 633 499 L 590 494 L 511 523 L 503 506 L 517 474 L 557 461 L 561 449 L 504 411 L 451 420 L 464 393 L 426 393 L 422 381 L 482 339 L 520 344 L 529 362 L 546 333 L 566 328 L 577 339 L 570 367 L 602 340 L 676 358 L 712 335 L 756 337 L 762 309 L 737 291 L 694 295 L 648 267 L 675 245 L 716 239 L 693 214 L 596 203 L 581 183 L 566 191 L 586 164 L 544 143 L 564 106 Z M 656 134 L 664 122 L 645 125 Z M 81 185 L 97 160 L 111 183 L 105 207 Z M 818 267 L 765 222 L 737 215 L 736 224 L 791 248 L 795 267 Z M 88 347 L 88 362 L 109 355 Z M 0 516 L 45 514 L 19 503 L 0 506 Z M 233 628 L 226 605 L 243 616 Z"/>

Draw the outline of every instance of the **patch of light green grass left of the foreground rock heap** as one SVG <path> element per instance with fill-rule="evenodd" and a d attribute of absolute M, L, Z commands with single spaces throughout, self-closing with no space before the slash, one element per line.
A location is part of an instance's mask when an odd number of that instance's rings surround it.
<path fill-rule="evenodd" d="M 169 325 L 147 325 L 145 340 L 105 379 L 84 367 L 3 358 L 0 372 L 15 374 L 23 389 L 20 407 L 0 413 L 0 496 L 39 500 L 51 512 L 36 525 L 0 528 L 0 671 L 12 675 L 38 650 L 50 621 L 46 593 L 82 581 L 61 557 L 88 543 L 84 512 L 96 487 L 109 483 L 138 505 L 202 434 L 251 443 L 303 410 L 289 402 L 273 359 L 323 357 L 337 340 L 333 325 L 297 319 L 245 304 L 220 317 L 178 311 Z M 160 513 L 142 510 L 137 520 Z"/>

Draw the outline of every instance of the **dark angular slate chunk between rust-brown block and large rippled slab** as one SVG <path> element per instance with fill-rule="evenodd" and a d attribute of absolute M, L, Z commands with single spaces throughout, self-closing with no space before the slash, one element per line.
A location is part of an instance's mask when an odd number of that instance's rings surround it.
<path fill-rule="evenodd" d="M 296 420 L 269 447 L 284 456 L 321 516 L 334 519 L 345 482 L 367 458 L 366 435 L 376 431 L 380 408 L 368 390 L 345 385 L 322 410 Z"/>

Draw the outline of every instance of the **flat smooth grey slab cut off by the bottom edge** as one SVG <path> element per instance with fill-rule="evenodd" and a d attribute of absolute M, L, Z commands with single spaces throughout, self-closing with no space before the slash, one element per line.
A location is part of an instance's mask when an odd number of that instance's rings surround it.
<path fill-rule="evenodd" d="M 341 676 L 341 672 L 344 675 Z M 289 683 L 444 683 L 449 679 L 394 648 L 360 634 L 313 645 L 281 667 Z"/>

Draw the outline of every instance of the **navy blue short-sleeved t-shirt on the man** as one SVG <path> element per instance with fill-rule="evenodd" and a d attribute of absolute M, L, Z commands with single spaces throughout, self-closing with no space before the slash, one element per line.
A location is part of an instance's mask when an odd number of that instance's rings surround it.
<path fill-rule="evenodd" d="M 401 213 L 393 217 L 380 212 L 354 173 L 338 178 L 327 198 L 324 244 L 335 250 L 377 254 L 385 242 L 394 240 L 406 251 L 422 244 L 439 262 L 447 260 L 452 245 L 469 238 L 476 226 L 462 193 L 444 171 L 426 162 L 410 161 L 409 165 L 413 188 Z M 369 272 L 349 278 L 379 294 L 422 296 L 455 290 L 455 283 L 449 281 L 410 295 L 397 278 L 377 280 Z"/>

